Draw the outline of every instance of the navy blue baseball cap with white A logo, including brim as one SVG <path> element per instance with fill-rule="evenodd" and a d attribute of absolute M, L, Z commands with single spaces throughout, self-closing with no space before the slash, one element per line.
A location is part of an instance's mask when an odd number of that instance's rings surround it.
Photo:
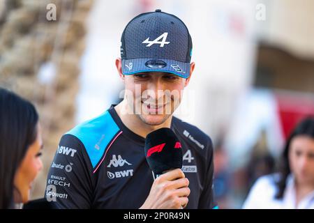
<path fill-rule="evenodd" d="M 154 12 L 130 20 L 121 36 L 122 73 L 170 72 L 190 76 L 192 39 L 178 17 Z"/>

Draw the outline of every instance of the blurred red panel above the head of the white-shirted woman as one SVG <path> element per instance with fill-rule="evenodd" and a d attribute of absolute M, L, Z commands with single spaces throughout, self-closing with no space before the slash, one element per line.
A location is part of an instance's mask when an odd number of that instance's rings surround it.
<path fill-rule="evenodd" d="M 302 119 L 314 116 L 314 98 L 283 94 L 275 94 L 275 98 L 285 139 Z"/>

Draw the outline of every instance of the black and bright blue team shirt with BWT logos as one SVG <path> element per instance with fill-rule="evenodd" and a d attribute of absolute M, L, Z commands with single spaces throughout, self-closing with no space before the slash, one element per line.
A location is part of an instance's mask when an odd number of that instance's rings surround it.
<path fill-rule="evenodd" d="M 214 208 L 211 139 L 175 117 L 171 129 L 181 141 L 182 170 L 190 181 L 186 208 Z M 59 208 L 140 208 L 154 182 L 144 142 L 126 128 L 112 105 L 63 135 L 47 177 L 46 198 Z"/>

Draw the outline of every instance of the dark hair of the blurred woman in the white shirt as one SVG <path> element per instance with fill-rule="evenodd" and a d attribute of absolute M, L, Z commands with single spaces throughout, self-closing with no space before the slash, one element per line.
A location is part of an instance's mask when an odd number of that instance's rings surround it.
<path fill-rule="evenodd" d="M 289 151 L 290 151 L 290 144 L 294 137 L 299 135 L 304 135 L 311 137 L 314 139 L 314 116 L 305 118 L 301 123 L 297 125 L 296 128 L 290 134 L 290 137 L 287 139 L 285 144 L 285 148 L 283 151 L 283 155 L 281 157 L 281 165 L 279 167 L 279 174 L 280 178 L 276 182 L 277 192 L 276 192 L 276 199 L 283 199 L 283 194 L 285 192 L 286 187 L 286 180 L 287 176 L 290 174 L 290 165 L 289 165 Z"/>

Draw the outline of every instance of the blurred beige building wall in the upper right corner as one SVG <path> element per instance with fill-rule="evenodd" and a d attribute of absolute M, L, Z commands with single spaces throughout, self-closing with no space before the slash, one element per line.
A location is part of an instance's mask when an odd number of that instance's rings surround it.
<path fill-rule="evenodd" d="M 283 47 L 297 56 L 314 59 L 314 1 L 264 2 L 269 21 L 262 40 Z"/>

